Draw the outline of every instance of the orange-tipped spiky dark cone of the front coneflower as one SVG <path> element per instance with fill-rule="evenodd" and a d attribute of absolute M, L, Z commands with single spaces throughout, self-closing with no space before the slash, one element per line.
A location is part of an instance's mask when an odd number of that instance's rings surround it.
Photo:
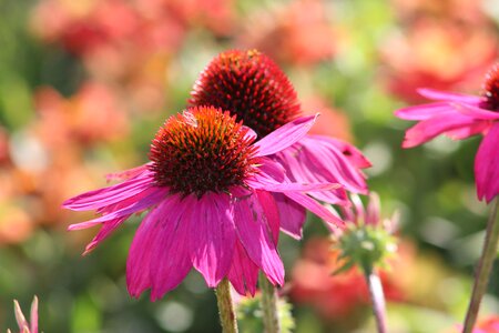
<path fill-rule="evenodd" d="M 169 118 L 151 144 L 156 185 L 197 198 L 244 185 L 258 162 L 248 131 L 230 112 L 213 107 L 190 108 Z"/>

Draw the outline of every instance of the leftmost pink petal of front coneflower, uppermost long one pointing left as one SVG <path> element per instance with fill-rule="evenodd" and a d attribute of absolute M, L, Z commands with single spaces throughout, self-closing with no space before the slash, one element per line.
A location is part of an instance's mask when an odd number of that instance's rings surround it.
<path fill-rule="evenodd" d="M 151 188 L 153 179 L 150 172 L 144 172 L 138 178 L 124 181 L 95 191 L 90 191 L 67 200 L 62 206 L 73 211 L 88 211 L 115 204 L 126 198 L 139 194 Z"/>

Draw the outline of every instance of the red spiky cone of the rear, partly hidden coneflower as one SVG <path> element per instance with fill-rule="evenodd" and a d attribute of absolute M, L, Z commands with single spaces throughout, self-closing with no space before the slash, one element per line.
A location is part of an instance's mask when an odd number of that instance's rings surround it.
<path fill-rule="evenodd" d="M 238 121 L 265 137 L 299 115 L 293 84 L 277 64 L 256 51 L 226 51 L 201 73 L 190 105 L 228 110 Z"/>

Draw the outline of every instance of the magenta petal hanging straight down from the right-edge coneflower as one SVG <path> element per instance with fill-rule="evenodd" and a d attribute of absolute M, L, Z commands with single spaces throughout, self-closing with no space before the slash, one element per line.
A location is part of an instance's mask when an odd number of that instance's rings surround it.
<path fill-rule="evenodd" d="M 499 123 L 495 123 L 480 143 L 475 158 L 478 199 L 492 201 L 499 193 Z"/>

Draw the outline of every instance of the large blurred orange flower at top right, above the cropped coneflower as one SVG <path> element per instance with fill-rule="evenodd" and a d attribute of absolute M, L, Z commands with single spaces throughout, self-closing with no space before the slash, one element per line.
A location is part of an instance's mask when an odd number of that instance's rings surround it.
<path fill-rule="evenodd" d="M 457 53 L 456 50 L 459 50 Z M 419 102 L 416 89 L 467 90 L 496 60 L 499 43 L 487 22 L 421 18 L 383 46 L 383 79 L 396 95 Z"/>

